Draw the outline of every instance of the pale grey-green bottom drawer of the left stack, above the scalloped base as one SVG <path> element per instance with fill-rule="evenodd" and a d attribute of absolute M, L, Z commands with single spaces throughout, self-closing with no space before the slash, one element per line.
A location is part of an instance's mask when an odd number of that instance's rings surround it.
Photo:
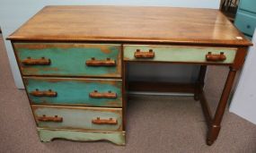
<path fill-rule="evenodd" d="M 32 105 L 41 128 L 85 131 L 122 131 L 122 109 L 83 106 Z"/>

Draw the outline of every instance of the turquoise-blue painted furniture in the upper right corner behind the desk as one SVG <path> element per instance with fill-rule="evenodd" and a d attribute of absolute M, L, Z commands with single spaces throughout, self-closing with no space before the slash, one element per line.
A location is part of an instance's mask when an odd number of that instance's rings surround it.
<path fill-rule="evenodd" d="M 252 38 L 256 28 L 256 1 L 240 0 L 234 25 L 248 38 Z"/>

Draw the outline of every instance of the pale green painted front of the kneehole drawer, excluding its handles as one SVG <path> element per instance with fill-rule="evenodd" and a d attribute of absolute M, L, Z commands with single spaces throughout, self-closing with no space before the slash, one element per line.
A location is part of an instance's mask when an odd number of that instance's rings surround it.
<path fill-rule="evenodd" d="M 137 49 L 148 52 L 154 50 L 154 58 L 137 59 L 134 53 Z M 206 61 L 208 52 L 220 54 L 224 52 L 226 60 L 224 62 L 214 62 L 215 64 L 232 64 L 234 62 L 235 49 L 228 48 L 204 48 L 204 47 L 168 47 L 168 46 L 125 46 L 125 61 L 160 61 L 160 62 L 188 62 L 188 63 L 212 63 Z"/>

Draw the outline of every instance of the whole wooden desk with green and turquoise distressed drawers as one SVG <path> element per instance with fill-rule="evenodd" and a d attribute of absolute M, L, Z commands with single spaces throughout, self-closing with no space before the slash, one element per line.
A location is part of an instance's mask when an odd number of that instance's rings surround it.
<path fill-rule="evenodd" d="M 235 73 L 252 45 L 217 10 L 131 6 L 47 6 L 8 39 L 42 141 L 110 140 L 119 145 L 125 144 L 127 90 L 151 85 L 194 93 L 211 145 Z M 198 64 L 199 79 L 184 89 L 127 82 L 126 64 L 131 62 Z M 213 116 L 203 91 L 207 65 L 230 67 Z"/>

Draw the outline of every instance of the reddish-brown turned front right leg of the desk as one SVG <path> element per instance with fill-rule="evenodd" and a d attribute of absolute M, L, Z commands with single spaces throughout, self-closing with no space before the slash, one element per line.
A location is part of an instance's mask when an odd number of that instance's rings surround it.
<path fill-rule="evenodd" d="M 225 106 L 233 86 L 235 73 L 236 73 L 236 70 L 234 70 L 233 68 L 230 68 L 227 79 L 225 81 L 225 87 L 222 91 L 221 98 L 216 108 L 216 114 L 212 119 L 212 121 L 209 123 L 209 129 L 207 133 L 207 145 L 213 144 L 213 142 L 216 140 L 218 133 L 220 131 L 220 123 L 225 113 Z"/>

